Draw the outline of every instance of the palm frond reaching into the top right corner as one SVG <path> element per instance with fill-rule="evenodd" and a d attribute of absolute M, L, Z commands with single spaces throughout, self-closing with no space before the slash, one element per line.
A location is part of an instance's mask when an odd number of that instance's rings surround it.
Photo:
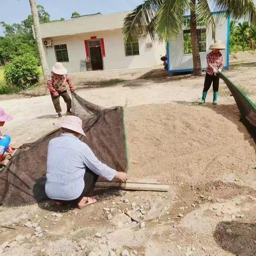
<path fill-rule="evenodd" d="M 256 7 L 253 0 L 211 0 L 214 10 L 225 11 L 231 19 L 245 19 L 256 26 Z"/>

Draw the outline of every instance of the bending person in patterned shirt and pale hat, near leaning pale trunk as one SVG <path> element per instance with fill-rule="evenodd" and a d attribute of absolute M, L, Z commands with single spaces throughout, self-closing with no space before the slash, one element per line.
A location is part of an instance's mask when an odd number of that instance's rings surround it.
<path fill-rule="evenodd" d="M 71 84 L 70 78 L 67 75 L 67 69 L 63 67 L 62 63 L 56 62 L 52 68 L 52 72 L 47 79 L 47 87 L 50 90 L 53 106 L 59 117 L 61 115 L 60 96 L 67 104 L 67 114 L 71 114 L 71 98 L 68 95 L 68 84 L 70 92 L 74 92 L 75 89 Z"/>

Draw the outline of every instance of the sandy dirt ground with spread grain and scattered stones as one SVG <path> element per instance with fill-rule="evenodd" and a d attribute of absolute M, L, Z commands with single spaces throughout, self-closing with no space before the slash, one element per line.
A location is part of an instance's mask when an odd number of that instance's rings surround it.
<path fill-rule="evenodd" d="M 254 56 L 237 54 L 226 74 L 256 102 Z M 111 73 L 125 81 L 78 94 L 101 106 L 126 106 L 129 175 L 156 178 L 171 189 L 109 191 L 83 210 L 52 202 L 0 207 L 0 254 L 256 255 L 256 147 L 233 97 L 221 83 L 219 104 L 210 103 L 210 93 L 209 103 L 198 106 L 203 77 L 160 79 L 160 73 L 134 74 L 130 81 Z M 1 131 L 18 145 L 61 122 L 49 95 L 4 100 L 1 107 L 14 116 Z"/>

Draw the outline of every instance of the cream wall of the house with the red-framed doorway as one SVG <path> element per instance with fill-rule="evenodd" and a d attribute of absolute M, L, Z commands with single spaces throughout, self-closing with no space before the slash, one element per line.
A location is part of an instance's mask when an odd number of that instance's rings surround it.
<path fill-rule="evenodd" d="M 103 69 L 122 69 L 122 68 L 146 68 L 154 67 L 161 63 L 159 60 L 165 55 L 165 44 L 153 44 L 153 47 L 147 47 L 149 38 L 139 38 L 140 55 L 125 56 L 124 36 L 121 29 L 98 31 L 94 33 L 77 34 L 73 36 L 52 37 L 53 46 L 59 44 L 67 44 L 69 62 L 63 62 L 68 72 L 86 71 L 81 68 L 81 61 L 85 61 L 85 45 L 84 41 L 97 36 L 103 38 L 105 43 L 106 57 L 103 58 Z M 45 56 L 49 68 L 57 61 L 55 57 L 54 47 L 45 48 Z"/>

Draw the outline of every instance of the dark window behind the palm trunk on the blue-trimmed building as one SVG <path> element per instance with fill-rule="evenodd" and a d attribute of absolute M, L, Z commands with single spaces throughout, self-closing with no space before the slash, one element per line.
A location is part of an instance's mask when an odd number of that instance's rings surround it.
<path fill-rule="evenodd" d="M 206 52 L 206 29 L 197 29 L 199 52 Z M 183 54 L 192 53 L 190 29 L 183 30 Z"/>

